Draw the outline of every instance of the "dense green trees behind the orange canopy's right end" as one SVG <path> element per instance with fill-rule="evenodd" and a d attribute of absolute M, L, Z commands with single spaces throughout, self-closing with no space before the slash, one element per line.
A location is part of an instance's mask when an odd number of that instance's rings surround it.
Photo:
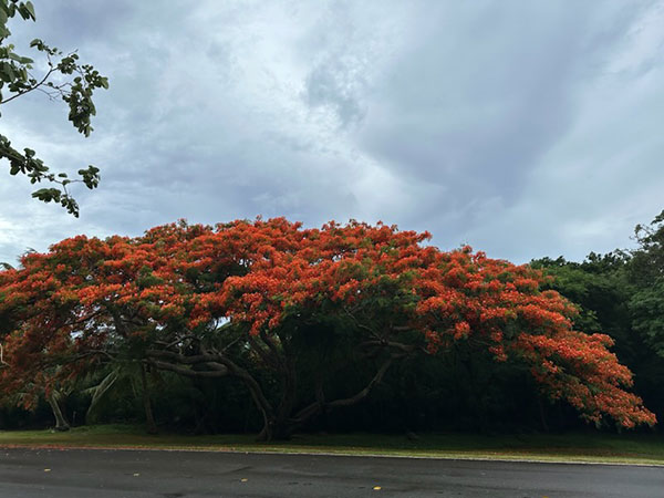
<path fill-rule="evenodd" d="M 664 416 L 664 211 L 635 228 L 637 247 L 582 262 L 537 259 L 554 280 L 550 287 L 577 303 L 579 329 L 615 341 L 621 362 L 634 372 L 634 391 Z"/>

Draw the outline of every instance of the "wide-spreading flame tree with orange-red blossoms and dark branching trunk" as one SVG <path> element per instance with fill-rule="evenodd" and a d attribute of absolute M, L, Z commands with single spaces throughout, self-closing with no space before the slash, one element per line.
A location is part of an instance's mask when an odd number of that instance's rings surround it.
<path fill-rule="evenodd" d="M 33 398 L 128 359 L 243 383 L 263 418 L 260 437 L 283 438 L 361 402 L 395 362 L 464 344 L 527 365 L 543 394 L 587 421 L 655 423 L 625 391 L 632 374 L 611 339 L 574 331 L 575 308 L 540 291 L 541 272 L 427 239 L 382 224 L 304 229 L 278 218 L 63 240 L 0 272 L 0 390 L 29 384 Z M 332 381 L 357 365 L 371 374 L 331 395 Z"/>

